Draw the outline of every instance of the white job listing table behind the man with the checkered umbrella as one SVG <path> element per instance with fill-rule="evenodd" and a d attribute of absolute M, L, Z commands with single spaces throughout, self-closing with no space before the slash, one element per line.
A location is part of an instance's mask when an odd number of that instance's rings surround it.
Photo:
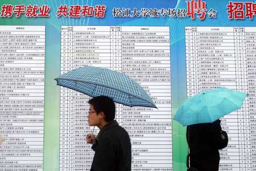
<path fill-rule="evenodd" d="M 117 104 L 117 121 L 131 137 L 132 170 L 172 170 L 169 27 L 61 27 L 61 73 L 85 65 L 125 73 L 147 91 L 158 110 Z M 92 132 L 88 99 L 61 87 L 60 170 L 92 164 L 94 152 L 85 141 Z"/>

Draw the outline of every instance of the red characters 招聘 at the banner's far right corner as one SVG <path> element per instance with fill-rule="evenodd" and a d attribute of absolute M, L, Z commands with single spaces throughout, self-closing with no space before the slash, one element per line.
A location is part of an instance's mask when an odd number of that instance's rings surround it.
<path fill-rule="evenodd" d="M 253 19 L 256 15 L 256 2 L 232 2 L 226 6 L 228 8 L 229 19 Z"/>

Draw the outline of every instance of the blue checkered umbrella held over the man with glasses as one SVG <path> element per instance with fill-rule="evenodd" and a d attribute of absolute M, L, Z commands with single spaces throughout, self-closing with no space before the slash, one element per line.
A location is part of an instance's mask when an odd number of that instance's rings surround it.
<path fill-rule="evenodd" d="M 79 91 L 90 97 L 105 95 L 126 106 L 154 107 L 155 103 L 134 80 L 106 68 L 84 66 L 55 78 L 57 85 Z"/>

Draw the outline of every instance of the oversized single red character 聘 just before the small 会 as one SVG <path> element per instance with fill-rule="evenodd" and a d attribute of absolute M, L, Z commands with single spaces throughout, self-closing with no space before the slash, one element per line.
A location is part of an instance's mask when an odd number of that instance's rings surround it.
<path fill-rule="evenodd" d="M 191 16 L 191 19 L 195 19 L 195 14 L 199 14 L 197 17 L 200 20 L 205 19 L 205 15 L 207 14 L 206 3 L 204 1 L 195 0 L 186 1 L 187 2 L 187 16 Z"/>

